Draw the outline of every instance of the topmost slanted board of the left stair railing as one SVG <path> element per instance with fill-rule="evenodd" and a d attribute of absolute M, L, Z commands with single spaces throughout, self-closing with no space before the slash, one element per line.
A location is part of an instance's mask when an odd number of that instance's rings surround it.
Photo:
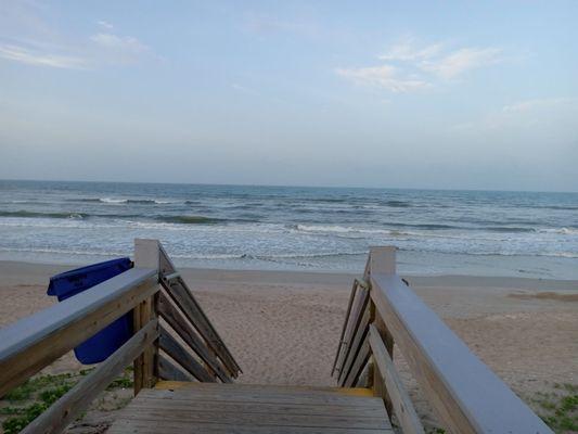
<path fill-rule="evenodd" d="M 213 327 L 211 322 L 205 315 L 204 310 L 201 308 L 198 303 L 193 296 L 193 293 L 187 286 L 187 283 L 181 277 L 176 277 L 175 273 L 178 272 L 175 265 L 170 260 L 169 256 L 159 244 L 159 268 L 162 275 L 165 276 L 163 279 L 164 286 L 174 298 L 175 303 L 182 309 L 185 316 L 189 318 L 191 323 L 207 342 L 208 346 L 215 352 L 215 354 L 221 359 L 224 367 L 229 370 L 231 376 L 236 378 L 240 372 L 242 372 L 239 363 L 235 361 L 234 357 L 231 355 L 227 346 L 224 345 L 222 339 L 219 336 L 219 333 Z M 170 276 L 171 279 L 166 279 L 166 276 Z M 196 319 L 196 322 L 195 322 Z"/>

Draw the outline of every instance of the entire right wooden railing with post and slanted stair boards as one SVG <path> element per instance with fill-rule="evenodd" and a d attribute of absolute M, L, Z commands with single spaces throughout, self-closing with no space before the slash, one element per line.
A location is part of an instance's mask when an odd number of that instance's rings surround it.
<path fill-rule="evenodd" d="M 354 283 L 332 374 L 342 386 L 372 387 L 403 433 L 423 433 L 394 344 L 446 432 L 552 433 L 396 275 L 395 247 L 373 247 Z"/>

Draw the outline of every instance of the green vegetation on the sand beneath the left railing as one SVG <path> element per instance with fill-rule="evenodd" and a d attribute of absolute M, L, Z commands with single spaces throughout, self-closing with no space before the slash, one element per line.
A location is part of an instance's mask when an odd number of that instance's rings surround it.
<path fill-rule="evenodd" d="M 21 432 L 93 370 L 94 368 L 89 368 L 75 373 L 37 375 L 10 391 L 0 400 L 0 420 L 4 434 Z M 132 388 L 132 367 L 127 368 L 121 376 L 106 387 L 111 396 L 99 400 L 99 409 L 112 411 L 126 406 L 130 397 L 121 397 L 116 393 L 124 388 Z"/>

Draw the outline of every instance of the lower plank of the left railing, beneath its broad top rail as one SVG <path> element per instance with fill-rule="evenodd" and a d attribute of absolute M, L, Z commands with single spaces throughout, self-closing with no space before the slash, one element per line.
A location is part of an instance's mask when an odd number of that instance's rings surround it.
<path fill-rule="evenodd" d="M 158 322 L 150 321 L 120 348 L 70 388 L 47 411 L 36 418 L 23 434 L 61 433 L 90 403 L 129 365 L 144 348 L 158 336 Z"/>

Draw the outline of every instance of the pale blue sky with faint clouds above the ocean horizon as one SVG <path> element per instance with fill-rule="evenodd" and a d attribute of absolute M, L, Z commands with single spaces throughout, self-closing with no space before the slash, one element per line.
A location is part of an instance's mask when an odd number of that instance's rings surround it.
<path fill-rule="evenodd" d="M 0 179 L 578 191 L 577 1 L 0 0 Z"/>

